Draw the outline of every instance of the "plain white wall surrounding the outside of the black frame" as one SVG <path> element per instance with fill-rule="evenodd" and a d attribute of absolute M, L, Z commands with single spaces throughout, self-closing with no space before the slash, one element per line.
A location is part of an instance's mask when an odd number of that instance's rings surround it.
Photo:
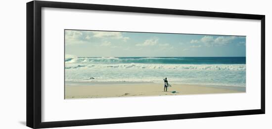
<path fill-rule="evenodd" d="M 0 129 L 28 129 L 26 123 L 26 2 L 0 5 Z M 271 129 L 272 10 L 269 0 L 58 0 L 128 6 L 266 15 L 266 114 L 159 122 L 111 124 L 62 129 Z M 270 50 L 270 51 L 269 51 Z M 270 60 L 269 60 L 270 58 Z"/>

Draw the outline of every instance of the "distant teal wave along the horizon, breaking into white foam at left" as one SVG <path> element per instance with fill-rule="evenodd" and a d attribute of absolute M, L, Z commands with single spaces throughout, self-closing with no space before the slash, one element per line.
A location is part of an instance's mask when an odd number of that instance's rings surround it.
<path fill-rule="evenodd" d="M 245 64 L 245 57 L 74 57 L 65 56 L 65 63 L 85 64 Z"/>

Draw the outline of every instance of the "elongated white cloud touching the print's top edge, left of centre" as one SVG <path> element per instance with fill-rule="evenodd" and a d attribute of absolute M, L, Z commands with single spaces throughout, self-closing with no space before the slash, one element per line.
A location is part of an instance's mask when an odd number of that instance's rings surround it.
<path fill-rule="evenodd" d="M 129 37 L 124 37 L 122 35 L 122 32 L 100 32 L 100 31 L 93 31 L 93 36 L 95 38 L 110 38 L 110 39 L 120 39 L 124 42 L 127 42 L 129 40 Z"/>

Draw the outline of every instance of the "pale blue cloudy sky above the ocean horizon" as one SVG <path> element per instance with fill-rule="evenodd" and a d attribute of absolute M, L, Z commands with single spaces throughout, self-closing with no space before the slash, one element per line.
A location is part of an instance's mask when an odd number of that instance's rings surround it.
<path fill-rule="evenodd" d="M 65 54 L 77 57 L 245 57 L 246 37 L 65 30 Z"/>

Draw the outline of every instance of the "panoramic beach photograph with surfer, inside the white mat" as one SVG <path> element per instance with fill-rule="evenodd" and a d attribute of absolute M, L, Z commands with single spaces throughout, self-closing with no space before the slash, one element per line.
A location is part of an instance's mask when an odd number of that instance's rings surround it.
<path fill-rule="evenodd" d="M 246 92 L 246 37 L 64 30 L 65 99 Z"/>

